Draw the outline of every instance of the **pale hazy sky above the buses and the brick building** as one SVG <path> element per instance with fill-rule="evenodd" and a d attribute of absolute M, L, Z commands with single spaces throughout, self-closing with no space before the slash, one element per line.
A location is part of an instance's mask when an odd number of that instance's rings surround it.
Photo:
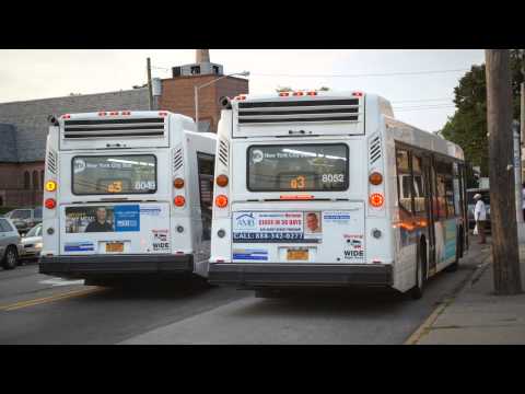
<path fill-rule="evenodd" d="M 0 103 L 128 90 L 195 61 L 194 49 L 1 49 Z M 396 118 L 428 131 L 454 114 L 454 88 L 482 49 L 210 49 L 224 73 L 247 70 L 249 92 L 279 86 L 376 93 Z"/>

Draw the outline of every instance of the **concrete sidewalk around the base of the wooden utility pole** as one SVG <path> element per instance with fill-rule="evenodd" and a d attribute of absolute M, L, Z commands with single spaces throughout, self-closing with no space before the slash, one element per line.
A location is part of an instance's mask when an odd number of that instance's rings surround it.
<path fill-rule="evenodd" d="M 520 245 L 525 289 L 525 245 Z M 493 296 L 492 255 L 489 251 L 474 277 L 438 317 L 423 329 L 417 345 L 525 344 L 525 293 Z"/>

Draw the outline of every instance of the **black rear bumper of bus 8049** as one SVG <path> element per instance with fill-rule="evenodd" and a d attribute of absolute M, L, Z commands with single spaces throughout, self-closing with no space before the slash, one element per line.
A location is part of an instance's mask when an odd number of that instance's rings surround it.
<path fill-rule="evenodd" d="M 40 256 L 39 273 L 65 278 L 190 274 L 192 255 Z"/>

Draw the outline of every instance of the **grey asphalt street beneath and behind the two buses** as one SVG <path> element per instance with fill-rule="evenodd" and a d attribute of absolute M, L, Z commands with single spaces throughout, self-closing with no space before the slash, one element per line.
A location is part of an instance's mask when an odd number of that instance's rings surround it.
<path fill-rule="evenodd" d="M 0 344 L 404 344 L 481 253 L 472 245 L 459 269 L 432 278 L 417 301 L 377 290 L 258 299 L 200 280 L 89 287 L 28 264 L 0 270 Z"/>

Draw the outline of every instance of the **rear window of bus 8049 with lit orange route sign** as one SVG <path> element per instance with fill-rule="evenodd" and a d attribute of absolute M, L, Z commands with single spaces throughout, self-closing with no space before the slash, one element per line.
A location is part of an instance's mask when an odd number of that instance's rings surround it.
<path fill-rule="evenodd" d="M 75 195 L 155 193 L 156 159 L 153 154 L 75 157 L 72 188 Z"/>

